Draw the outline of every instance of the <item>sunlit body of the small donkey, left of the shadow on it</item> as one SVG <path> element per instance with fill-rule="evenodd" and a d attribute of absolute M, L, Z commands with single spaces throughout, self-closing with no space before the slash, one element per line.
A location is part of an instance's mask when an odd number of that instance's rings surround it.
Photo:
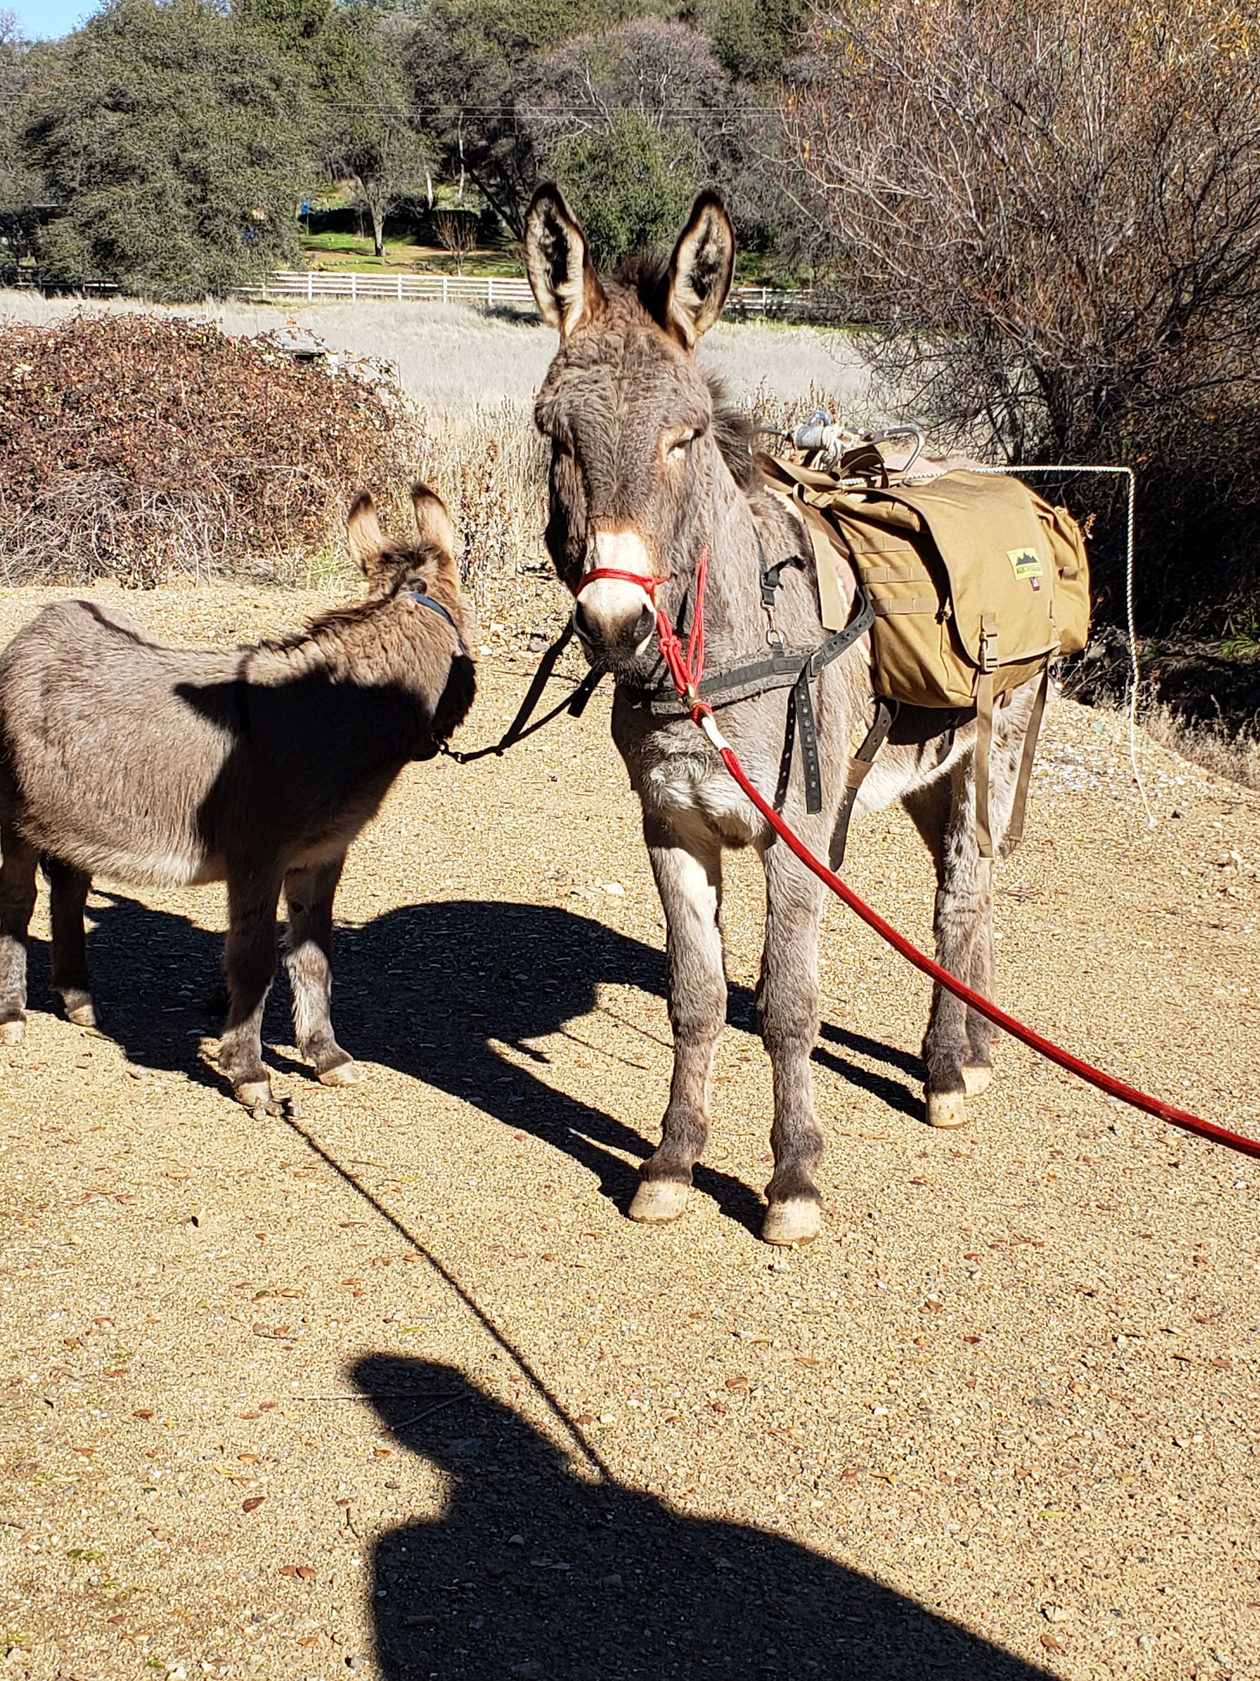
<path fill-rule="evenodd" d="M 242 657 L 163 647 L 97 602 L 45 607 L 0 656 L 0 815 L 89 874 L 222 879 L 198 814 L 232 753 Z"/>

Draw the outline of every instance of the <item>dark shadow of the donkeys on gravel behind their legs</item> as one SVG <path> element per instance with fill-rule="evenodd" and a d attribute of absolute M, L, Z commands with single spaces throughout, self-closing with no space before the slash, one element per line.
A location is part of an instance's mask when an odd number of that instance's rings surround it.
<path fill-rule="evenodd" d="M 133 1062 L 178 1071 L 222 1091 L 218 1072 L 197 1054 L 198 1029 L 210 1027 L 207 999 L 220 983 L 222 936 L 128 898 L 101 898 L 106 903 L 97 901 L 91 914 L 102 1030 Z M 32 982 L 45 968 L 47 960 L 32 950 Z M 467 1099 L 504 1125 L 563 1150 L 625 1209 L 638 1185 L 637 1163 L 650 1155 L 652 1141 L 519 1066 L 519 1061 L 533 1064 L 539 1074 L 548 1066 L 548 1052 L 534 1041 L 556 1034 L 580 1041 L 580 1030 L 570 1024 L 598 1007 L 603 983 L 664 999 L 664 953 L 561 906 L 438 899 L 402 906 L 336 933 L 334 1020 L 354 1056 Z M 749 988 L 731 987 L 729 1022 L 736 1030 L 756 1032 Z M 640 1032 L 655 1037 L 654 1030 L 623 1025 L 613 1056 L 632 1069 L 643 1067 L 643 1123 L 655 1131 L 665 1081 L 640 1057 L 638 1044 L 645 1046 Z M 659 1032 L 667 1039 L 664 1020 Z M 291 1042 L 282 967 L 267 1004 L 264 1037 L 272 1066 L 309 1074 L 304 1064 L 276 1051 L 277 1044 Z M 916 1057 L 830 1024 L 823 1025 L 823 1041 L 815 1051 L 816 1062 L 921 1118 L 917 1093 L 895 1078 L 906 1072 L 922 1079 Z M 501 1046 L 512 1047 L 517 1061 L 509 1061 Z M 830 1046 L 882 1062 L 889 1072 L 864 1067 Z M 659 1056 L 655 1044 L 647 1049 Z M 716 1126 L 721 1130 L 721 1113 Z M 696 1185 L 729 1219 L 759 1229 L 761 1200 L 741 1180 L 701 1163 Z"/>

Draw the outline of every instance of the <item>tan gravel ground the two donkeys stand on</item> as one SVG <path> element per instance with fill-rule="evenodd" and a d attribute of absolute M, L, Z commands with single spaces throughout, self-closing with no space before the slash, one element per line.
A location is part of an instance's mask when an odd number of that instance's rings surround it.
<path fill-rule="evenodd" d="M 5 595 L 0 632 L 52 593 Z M 232 642 L 323 600 L 126 607 Z M 487 635 L 474 741 L 531 666 Z M 1255 1133 L 1260 802 L 1139 751 L 1154 830 L 1117 721 L 1048 723 L 1003 999 Z M 850 879 L 926 936 L 900 815 Z M 264 1125 L 213 1071 L 222 894 L 92 898 L 99 1032 L 49 1009 L 40 899 L 0 1052 L 0 1674 L 1260 1674 L 1255 1163 L 1011 1044 L 974 1125 L 931 1133 L 926 988 L 837 909 L 828 1217 L 768 1251 L 738 859 L 712 1146 L 682 1222 L 632 1225 L 669 1029 L 601 698 L 413 767 L 339 913 L 365 1084 L 307 1078 L 277 995 L 294 1113 Z"/>

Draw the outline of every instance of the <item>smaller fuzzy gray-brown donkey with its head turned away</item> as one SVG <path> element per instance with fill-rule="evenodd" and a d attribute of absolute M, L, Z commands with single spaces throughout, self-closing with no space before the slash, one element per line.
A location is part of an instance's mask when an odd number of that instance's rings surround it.
<path fill-rule="evenodd" d="M 417 538 L 349 511 L 368 595 L 306 630 L 235 652 L 151 642 L 96 602 L 45 607 L 0 656 L 0 1041 L 25 1030 L 25 936 L 42 859 L 52 985 L 92 1025 L 84 901 L 94 874 L 168 888 L 227 881 L 234 1096 L 274 1113 L 262 1007 L 276 909 L 294 1034 L 324 1084 L 358 1071 L 333 1035 L 333 896 L 346 849 L 403 765 L 432 758 L 475 693 L 470 609 L 438 496 L 412 487 Z"/>

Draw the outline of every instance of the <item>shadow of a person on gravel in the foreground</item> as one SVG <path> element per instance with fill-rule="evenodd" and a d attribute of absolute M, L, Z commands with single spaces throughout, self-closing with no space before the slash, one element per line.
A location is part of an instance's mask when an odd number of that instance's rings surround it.
<path fill-rule="evenodd" d="M 440 1516 L 375 1548 L 370 1604 L 388 1681 L 1047 1681 L 795 1541 L 580 1479 L 477 1389 L 413 1422 L 418 1394 L 462 1385 L 449 1367 L 373 1355 L 353 1377 L 398 1444 L 447 1479 Z M 407 1462 L 398 1469 L 405 1489 Z"/>

